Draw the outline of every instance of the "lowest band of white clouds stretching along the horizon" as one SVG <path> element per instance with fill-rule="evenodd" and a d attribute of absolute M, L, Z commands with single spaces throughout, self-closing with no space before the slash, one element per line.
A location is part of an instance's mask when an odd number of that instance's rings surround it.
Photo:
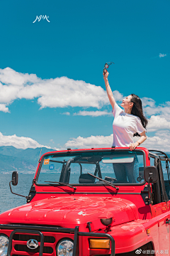
<path fill-rule="evenodd" d="M 135 138 L 136 140 L 136 138 Z M 54 143 L 52 139 L 50 142 Z M 113 144 L 113 134 L 109 136 L 93 136 L 91 137 L 77 137 L 72 138 L 67 141 L 64 146 L 61 146 L 60 149 L 52 147 L 52 149 L 56 150 L 64 150 L 70 147 L 71 149 L 90 149 L 94 148 L 106 148 L 111 147 Z M 39 144 L 34 139 L 29 137 L 17 137 L 16 134 L 11 136 L 5 136 L 0 132 L 0 146 L 15 146 L 17 149 L 27 149 L 32 148 L 35 149 L 37 147 L 46 147 L 47 149 L 51 149 L 50 146 L 44 146 Z M 158 149 L 162 151 L 170 151 L 170 132 L 168 130 L 163 130 L 156 132 L 153 137 L 147 137 L 147 140 L 141 145 L 146 147 L 147 149 Z"/>

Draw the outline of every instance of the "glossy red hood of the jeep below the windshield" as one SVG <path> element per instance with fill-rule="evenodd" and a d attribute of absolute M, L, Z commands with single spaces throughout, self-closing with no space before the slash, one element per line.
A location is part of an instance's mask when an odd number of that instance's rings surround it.
<path fill-rule="evenodd" d="M 0 223 L 55 225 L 63 228 L 79 225 L 79 230 L 87 231 L 86 223 L 90 221 L 91 231 L 94 231 L 105 228 L 100 215 L 107 213 L 113 214 L 115 220 L 112 225 L 138 219 L 135 204 L 122 198 L 51 196 L 1 213 Z"/>

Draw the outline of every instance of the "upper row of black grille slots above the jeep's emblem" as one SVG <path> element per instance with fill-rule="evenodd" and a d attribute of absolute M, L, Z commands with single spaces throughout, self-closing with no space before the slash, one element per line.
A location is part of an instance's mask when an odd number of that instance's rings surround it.
<path fill-rule="evenodd" d="M 13 240 L 16 241 L 28 241 L 30 239 L 35 239 L 40 242 L 40 235 L 23 235 L 23 234 L 15 234 L 13 235 Z M 55 238 L 52 236 L 45 235 L 44 242 L 54 243 Z"/>

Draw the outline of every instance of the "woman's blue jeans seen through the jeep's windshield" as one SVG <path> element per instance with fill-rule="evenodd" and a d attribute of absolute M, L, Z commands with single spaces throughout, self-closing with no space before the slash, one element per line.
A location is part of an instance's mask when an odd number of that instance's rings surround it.
<path fill-rule="evenodd" d="M 113 169 L 118 183 L 137 183 L 139 164 L 136 154 L 132 163 L 113 164 Z"/>

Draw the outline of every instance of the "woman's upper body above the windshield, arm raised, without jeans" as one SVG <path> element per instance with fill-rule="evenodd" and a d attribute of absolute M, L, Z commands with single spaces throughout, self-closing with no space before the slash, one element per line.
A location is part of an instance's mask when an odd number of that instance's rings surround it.
<path fill-rule="evenodd" d="M 133 150 L 147 139 L 145 128 L 148 121 L 142 111 L 142 101 L 137 95 L 131 94 L 123 99 L 121 107 L 124 110 L 122 110 L 113 97 L 113 92 L 108 83 L 108 74 L 108 71 L 105 74 L 103 73 L 103 78 L 108 99 L 113 107 L 113 146 L 129 146 L 130 150 Z M 132 138 L 134 135 L 137 136 L 136 134 L 140 135 L 140 139 L 134 143 Z"/>

